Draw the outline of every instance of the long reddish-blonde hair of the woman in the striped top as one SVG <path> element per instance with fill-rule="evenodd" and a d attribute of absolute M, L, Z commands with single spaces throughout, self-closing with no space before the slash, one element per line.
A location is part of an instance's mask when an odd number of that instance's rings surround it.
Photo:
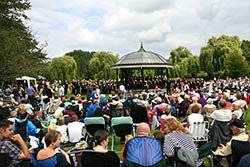
<path fill-rule="evenodd" d="M 183 127 L 182 123 L 175 119 L 167 119 L 164 122 L 164 125 L 168 127 L 170 132 L 176 131 L 178 133 L 189 134 L 189 131 Z"/>

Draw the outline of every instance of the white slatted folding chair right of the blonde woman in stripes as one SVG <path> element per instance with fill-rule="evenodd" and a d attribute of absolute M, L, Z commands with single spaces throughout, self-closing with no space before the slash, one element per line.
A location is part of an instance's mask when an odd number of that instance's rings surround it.
<path fill-rule="evenodd" d="M 190 134 L 193 137 L 194 142 L 208 141 L 208 132 L 209 132 L 209 122 L 194 122 L 191 125 Z"/>

